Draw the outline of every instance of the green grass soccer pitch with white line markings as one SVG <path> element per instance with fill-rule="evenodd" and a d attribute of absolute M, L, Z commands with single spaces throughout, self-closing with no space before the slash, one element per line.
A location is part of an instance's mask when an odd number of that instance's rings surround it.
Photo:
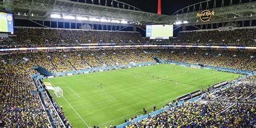
<path fill-rule="evenodd" d="M 44 79 L 43 82 L 62 88 L 64 97 L 55 99 L 74 127 L 104 127 L 124 123 L 125 118 L 141 114 L 143 107 L 151 112 L 153 106 L 160 109 L 201 86 L 206 89 L 208 85 L 238 77 L 234 73 L 160 64 Z"/>

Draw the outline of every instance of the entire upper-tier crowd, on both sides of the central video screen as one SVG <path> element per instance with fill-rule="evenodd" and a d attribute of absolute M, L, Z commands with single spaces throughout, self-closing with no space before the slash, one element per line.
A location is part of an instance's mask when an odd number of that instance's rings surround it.
<path fill-rule="evenodd" d="M 144 39 L 139 32 L 120 31 L 15 28 L 14 35 L 16 36 L 12 36 L 11 39 L 20 45 L 77 45 L 87 43 L 138 44 L 150 42 L 149 39 Z M 254 45 L 256 43 L 255 35 L 256 29 L 181 31 L 176 38 L 162 40 L 160 43 Z"/>

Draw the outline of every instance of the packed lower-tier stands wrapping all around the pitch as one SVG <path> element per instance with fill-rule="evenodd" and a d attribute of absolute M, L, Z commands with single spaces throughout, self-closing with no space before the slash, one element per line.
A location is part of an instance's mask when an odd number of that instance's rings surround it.
<path fill-rule="evenodd" d="M 4 54 L 1 55 L 3 60 L 1 62 L 1 67 L 3 67 L 1 73 L 3 85 L 0 86 L 2 107 L 4 108 L 4 111 L 1 113 L 2 122 L 4 122 L 4 126 L 50 126 L 51 124 L 46 114 L 49 112 L 49 117 L 53 120 L 54 125 L 62 126 L 63 124 L 60 121 L 62 120 L 66 126 L 71 126 L 64 113 L 54 101 L 52 102 L 53 105 L 51 105 L 48 97 L 42 97 L 44 105 L 40 103 L 37 88 L 30 78 L 30 75 L 36 73 L 35 70 L 31 69 L 34 65 L 42 66 L 56 73 L 104 65 L 125 65 L 130 62 L 154 62 L 155 60 L 152 57 L 155 56 L 161 60 L 254 71 L 254 55 L 255 52 L 250 50 L 199 49 L 60 50 Z M 253 112 L 255 111 L 252 105 L 246 105 L 245 103 L 255 103 L 255 92 L 253 91 L 255 90 L 255 78 L 248 79 L 247 82 L 237 83 L 230 87 L 229 90 L 223 90 L 211 96 L 215 97 L 212 99 L 213 101 L 221 100 L 227 102 L 225 104 L 215 102 L 186 103 L 177 106 L 176 109 L 158 114 L 158 116 L 143 120 L 139 124 L 133 124 L 132 126 L 248 126 L 248 124 L 252 123 L 248 120 L 253 118 L 253 114 L 255 115 Z M 254 83 L 252 84 L 251 82 Z M 40 95 L 46 96 L 45 93 L 43 91 Z M 240 101 L 243 103 L 235 104 L 235 102 Z M 188 111 L 192 111 L 194 106 L 196 106 L 197 112 Z M 46 109 L 43 109 L 43 107 Z M 55 112 L 54 108 L 57 112 Z M 235 115 L 230 111 L 241 111 L 241 109 L 246 111 L 238 113 L 236 116 L 237 120 L 232 120 Z M 221 110 L 226 111 L 217 115 L 216 113 L 219 113 Z M 200 113 L 202 111 L 203 113 Z M 211 114 L 203 116 L 206 114 L 206 111 L 211 111 L 210 113 L 213 113 L 212 116 Z M 57 117 L 57 113 L 59 113 L 61 118 Z M 246 114 L 248 116 L 244 116 Z M 181 118 L 184 116 L 188 117 Z M 213 118 L 214 116 L 216 118 Z M 27 119 L 33 121 L 27 121 Z M 177 122 L 174 120 L 177 120 Z"/>

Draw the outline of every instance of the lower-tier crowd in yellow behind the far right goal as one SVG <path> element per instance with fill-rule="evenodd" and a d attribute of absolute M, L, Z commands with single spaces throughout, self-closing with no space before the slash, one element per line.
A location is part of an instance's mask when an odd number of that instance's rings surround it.
<path fill-rule="evenodd" d="M 155 54 L 163 60 L 204 64 L 240 70 L 256 70 L 256 52 L 253 50 L 170 49 L 162 50 Z"/>

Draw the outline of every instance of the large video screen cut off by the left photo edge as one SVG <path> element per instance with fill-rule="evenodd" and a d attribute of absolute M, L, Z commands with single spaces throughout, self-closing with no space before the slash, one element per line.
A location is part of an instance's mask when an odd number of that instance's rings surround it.
<path fill-rule="evenodd" d="M 0 32 L 14 33 L 14 22 L 12 14 L 0 12 Z"/>

